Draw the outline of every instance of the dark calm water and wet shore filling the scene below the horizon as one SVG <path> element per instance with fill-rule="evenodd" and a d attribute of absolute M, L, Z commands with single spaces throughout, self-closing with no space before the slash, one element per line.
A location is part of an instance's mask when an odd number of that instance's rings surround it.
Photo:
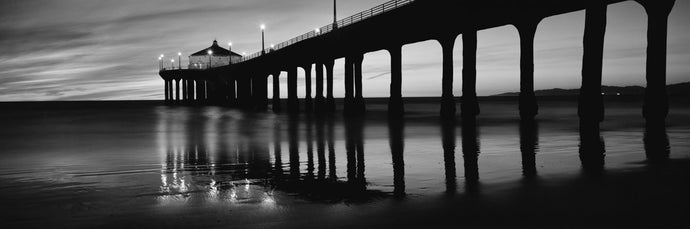
<path fill-rule="evenodd" d="M 420 101 L 390 120 L 376 101 L 359 117 L 2 104 L 0 225 L 688 226 L 690 106 L 646 125 L 640 101 L 606 98 L 598 128 L 568 98 L 542 99 L 534 122 L 511 99 L 483 99 L 474 121 Z"/>

